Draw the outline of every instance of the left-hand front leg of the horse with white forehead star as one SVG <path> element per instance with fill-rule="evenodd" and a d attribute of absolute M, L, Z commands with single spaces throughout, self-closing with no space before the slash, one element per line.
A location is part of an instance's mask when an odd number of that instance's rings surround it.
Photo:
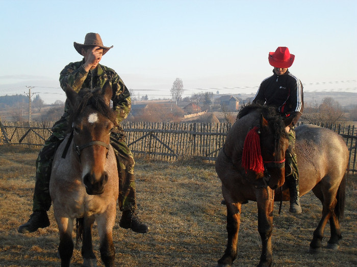
<path fill-rule="evenodd" d="M 60 232 L 60 245 L 58 246 L 58 253 L 61 258 L 61 267 L 68 267 L 74 247 L 72 240 L 73 220 L 65 217 L 59 218 L 56 214 L 55 217 Z"/>

